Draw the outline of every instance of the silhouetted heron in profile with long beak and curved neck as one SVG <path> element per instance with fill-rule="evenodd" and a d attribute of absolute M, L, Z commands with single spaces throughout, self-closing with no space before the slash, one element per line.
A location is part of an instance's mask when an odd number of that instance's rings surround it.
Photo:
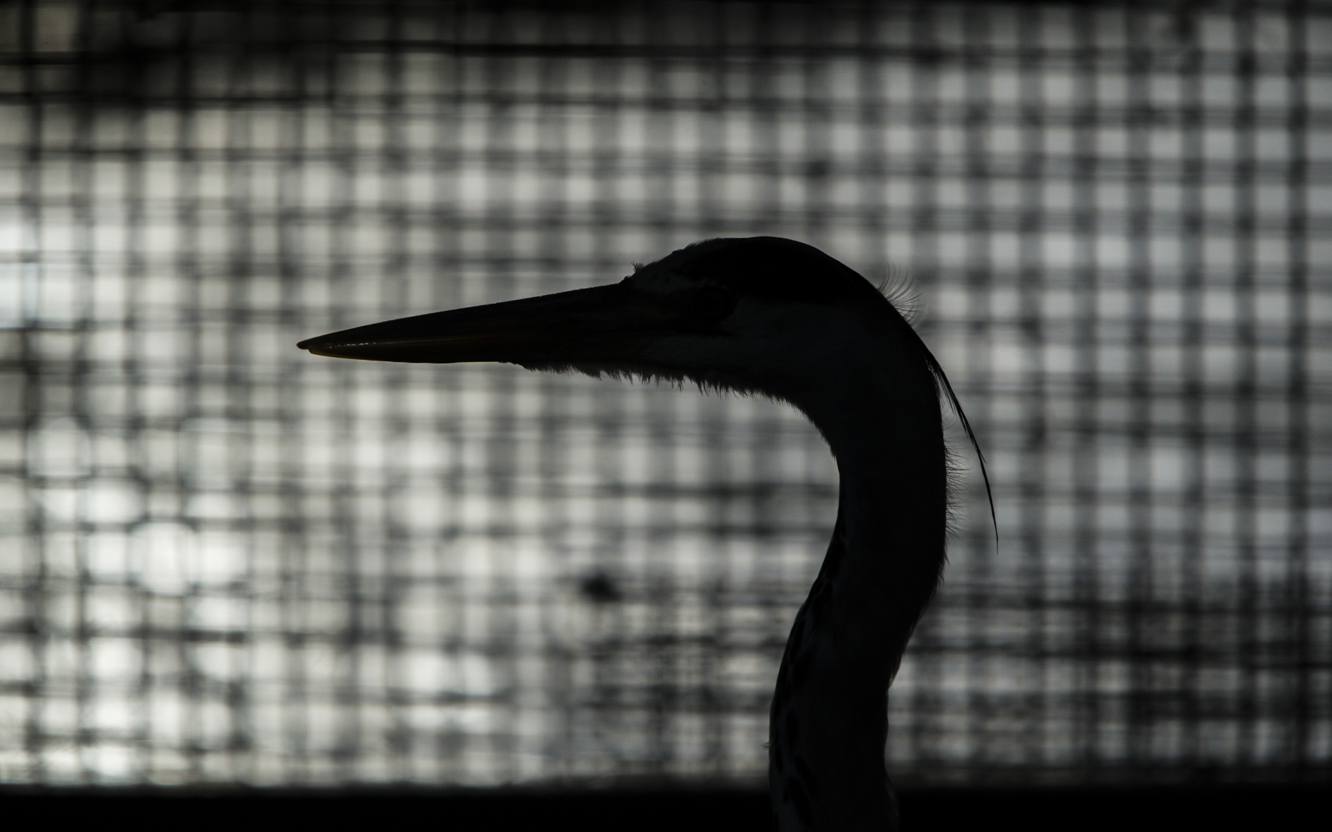
<path fill-rule="evenodd" d="M 803 242 L 717 238 L 617 284 L 370 323 L 298 346 L 337 358 L 693 382 L 799 409 L 836 459 L 838 517 L 778 670 L 773 812 L 781 832 L 898 828 L 887 691 L 943 575 L 950 455 L 940 399 L 974 445 L 975 434 L 939 362 L 874 284 Z"/>

